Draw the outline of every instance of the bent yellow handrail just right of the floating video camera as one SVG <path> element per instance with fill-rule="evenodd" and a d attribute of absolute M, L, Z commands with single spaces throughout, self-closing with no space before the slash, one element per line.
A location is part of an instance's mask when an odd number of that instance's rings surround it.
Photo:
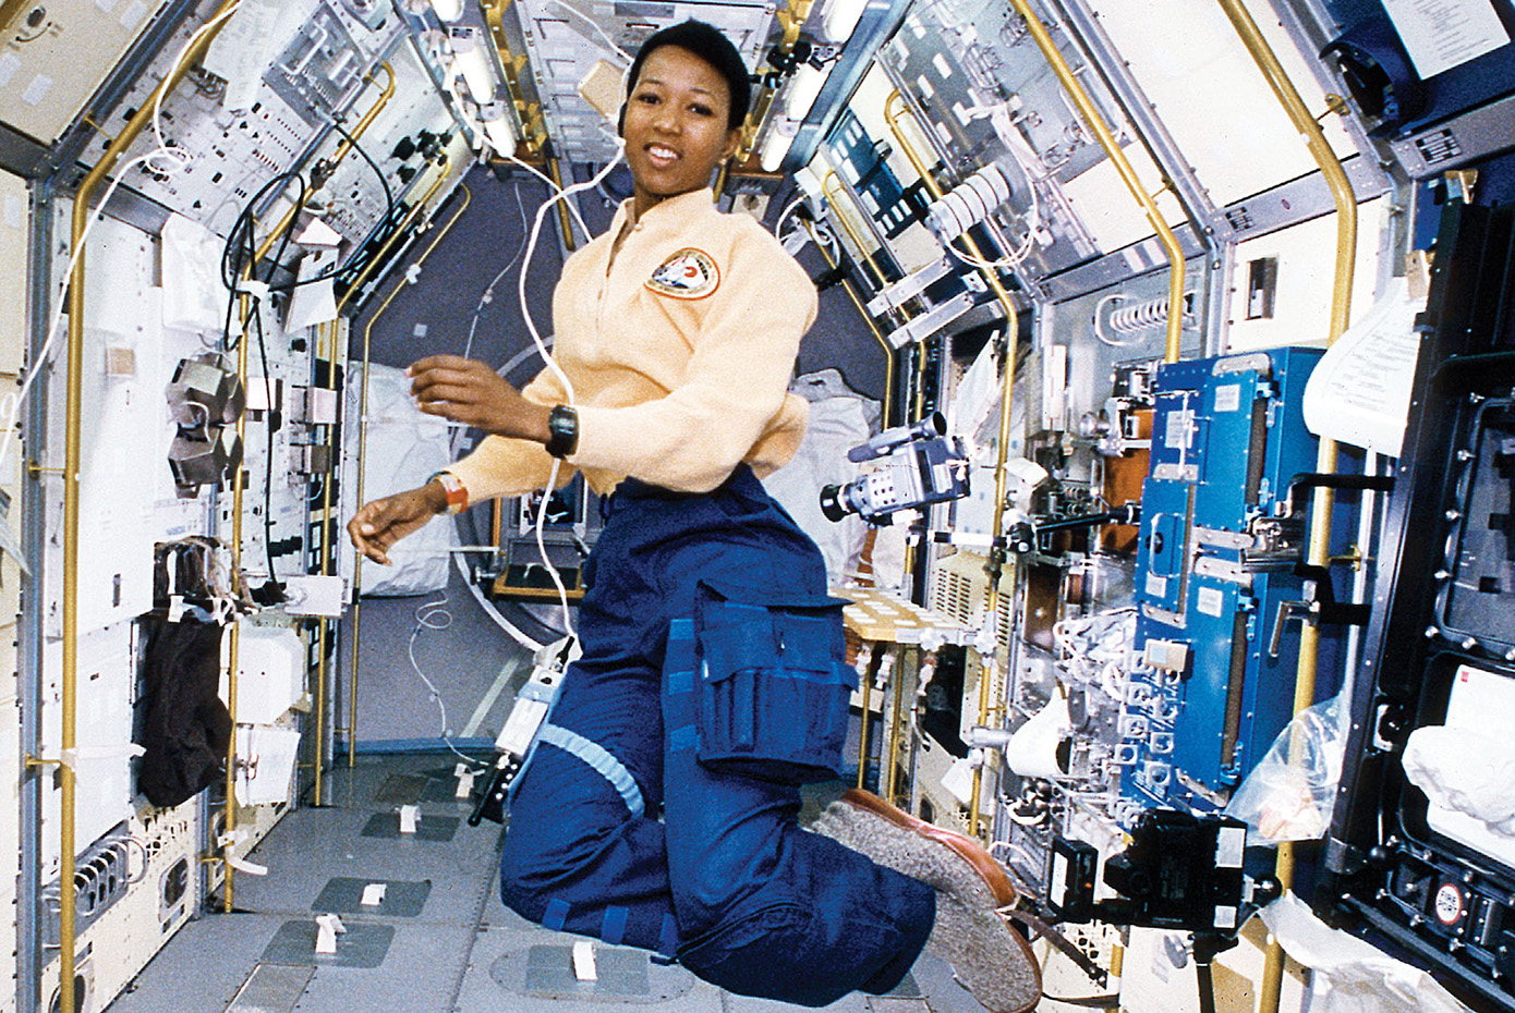
<path fill-rule="evenodd" d="M 915 153 L 915 147 L 911 144 L 909 136 L 900 129 L 898 114 L 892 112 L 894 103 L 898 101 L 904 106 L 904 97 L 898 89 L 889 92 L 889 97 L 883 103 L 883 118 L 889 124 L 889 130 L 894 133 L 894 139 L 898 141 L 900 150 L 904 151 L 904 157 L 911 161 L 917 174 L 921 177 L 921 183 L 930 191 L 932 197 L 941 200 L 942 188 L 932 179 L 930 170 L 926 162 Z M 907 106 L 906 106 L 907 108 Z M 979 250 L 979 244 L 974 242 L 973 236 L 965 235 L 962 238 L 964 245 L 968 253 L 976 260 L 983 260 L 983 253 Z M 1004 486 L 1006 486 L 1006 471 L 1004 462 L 1009 457 L 1011 450 L 1011 407 L 1015 392 L 1015 341 L 1020 335 L 1020 313 L 1015 310 L 1015 301 L 1011 294 L 1000 283 L 998 276 L 986 266 L 979 266 L 979 273 L 983 274 L 985 282 L 989 285 L 989 291 L 994 292 L 995 298 L 1000 300 L 1000 306 L 1004 307 L 1004 391 L 1000 403 L 1000 445 L 995 453 L 994 460 L 994 509 L 991 513 L 991 548 L 989 548 L 989 563 L 985 571 L 989 574 L 989 589 L 985 597 L 985 606 L 988 610 L 986 621 L 989 624 L 997 624 L 1000 621 L 1000 572 L 1006 559 L 1004 551 Z M 979 724 L 989 724 L 989 698 L 994 684 L 998 681 L 997 668 L 1000 663 L 998 645 L 989 650 L 988 663 L 983 666 L 983 672 L 979 677 Z M 979 834 L 979 806 L 983 795 L 983 768 L 973 768 L 973 795 L 968 801 L 968 833 Z"/>

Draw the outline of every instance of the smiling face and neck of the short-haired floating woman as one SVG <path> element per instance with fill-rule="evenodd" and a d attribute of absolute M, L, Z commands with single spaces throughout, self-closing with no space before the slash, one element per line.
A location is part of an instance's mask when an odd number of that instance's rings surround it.
<path fill-rule="evenodd" d="M 665 197 L 711 185 L 741 142 L 727 126 L 732 98 L 715 67 L 679 45 L 653 50 L 626 103 L 626 164 L 636 215 Z"/>

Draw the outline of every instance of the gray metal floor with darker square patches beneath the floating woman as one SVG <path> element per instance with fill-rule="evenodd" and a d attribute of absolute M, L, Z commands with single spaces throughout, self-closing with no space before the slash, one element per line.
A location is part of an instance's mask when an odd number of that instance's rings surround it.
<path fill-rule="evenodd" d="M 595 940 L 601 980 L 579 983 L 579 939 L 532 925 L 498 898 L 500 827 L 461 822 L 447 842 L 364 837 L 374 815 L 392 815 L 420 793 L 423 816 L 465 816 L 439 798 L 450 762 L 436 756 L 359 757 L 338 766 L 333 806 L 291 812 L 253 852 L 267 877 L 239 877 L 238 905 L 251 913 L 206 915 L 186 925 L 108 1013 L 291 1013 L 300 984 L 280 974 L 314 968 L 292 1013 L 798 1013 L 803 1007 L 733 996 L 680 966 Z M 395 780 L 398 775 L 400 780 Z M 356 904 L 367 883 L 389 883 L 379 910 Z M 314 954 L 314 910 L 336 910 L 348 925 L 341 954 Z M 280 937 L 280 930 L 283 936 Z M 367 940 L 365 940 L 367 937 Z M 270 943 L 279 942 L 277 946 Z M 367 948 L 355 943 L 370 943 Z M 359 952 L 362 951 L 362 952 Z M 351 957 L 356 958 L 353 960 Z M 265 960 L 268 981 L 238 990 Z M 342 966 L 344 963 L 374 966 Z M 279 981 L 274 981 L 279 978 Z M 273 987 L 274 984 L 286 987 Z M 262 987 L 268 984 L 268 987 Z M 448 1001 L 458 993 L 454 1004 Z M 265 995 L 267 993 L 267 995 Z M 277 1007 L 277 1008 L 276 1008 Z M 923 958 L 888 996 L 844 996 L 833 1013 L 983 1013 L 945 963 Z"/>

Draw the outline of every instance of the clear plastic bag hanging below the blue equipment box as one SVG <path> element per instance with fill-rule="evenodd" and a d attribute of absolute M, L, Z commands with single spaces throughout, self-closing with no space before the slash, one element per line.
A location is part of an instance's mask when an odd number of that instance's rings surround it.
<path fill-rule="evenodd" d="M 1345 750 L 1341 697 L 1301 710 L 1232 795 L 1226 815 L 1251 827 L 1253 843 L 1320 837 L 1330 824 Z"/>

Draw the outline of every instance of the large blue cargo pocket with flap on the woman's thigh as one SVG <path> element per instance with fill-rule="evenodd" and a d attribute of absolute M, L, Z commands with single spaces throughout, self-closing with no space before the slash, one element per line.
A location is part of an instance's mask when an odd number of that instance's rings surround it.
<path fill-rule="evenodd" d="M 847 701 L 842 598 L 700 583 L 695 757 L 709 769 L 783 784 L 841 769 Z"/>

